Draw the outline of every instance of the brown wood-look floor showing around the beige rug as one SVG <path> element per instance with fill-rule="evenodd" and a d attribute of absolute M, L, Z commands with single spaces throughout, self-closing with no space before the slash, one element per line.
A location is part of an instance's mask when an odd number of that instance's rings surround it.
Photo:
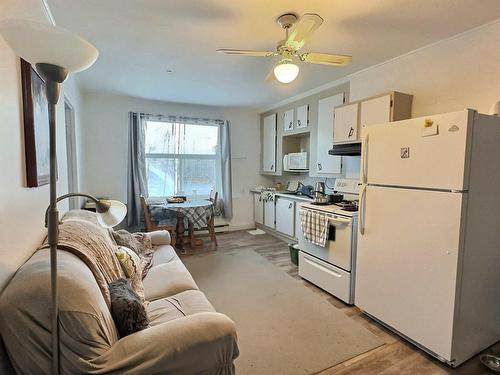
<path fill-rule="evenodd" d="M 216 251 L 234 249 L 256 251 L 269 262 L 281 268 L 283 272 L 301 280 L 304 285 L 315 293 L 318 293 L 322 298 L 325 298 L 335 308 L 342 310 L 344 314 L 357 321 L 384 341 L 384 345 L 324 370 L 319 373 L 320 375 L 491 374 L 491 372 L 479 362 L 479 356 L 470 359 L 458 368 L 450 368 L 363 315 L 357 307 L 347 305 L 324 292 L 322 289 L 303 280 L 298 275 L 297 266 L 290 261 L 287 244 L 275 237 L 268 234 L 252 236 L 246 231 L 237 231 L 218 234 L 217 240 L 219 246 Z M 196 254 L 199 253 L 213 251 L 213 247 L 209 245 L 209 240 L 205 239 L 204 241 L 207 244 L 205 248 L 196 250 L 190 250 L 188 248 L 186 249 L 186 254 L 181 255 L 181 257 L 196 256 Z M 485 353 L 500 354 L 500 343 L 485 350 Z"/>

